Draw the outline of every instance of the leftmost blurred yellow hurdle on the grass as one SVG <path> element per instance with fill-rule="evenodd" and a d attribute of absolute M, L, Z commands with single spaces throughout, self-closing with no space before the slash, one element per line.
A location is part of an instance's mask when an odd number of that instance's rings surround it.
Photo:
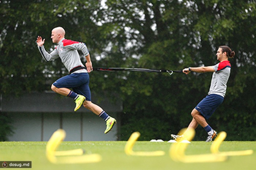
<path fill-rule="evenodd" d="M 83 155 L 83 149 L 56 151 L 60 143 L 65 139 L 66 132 L 62 129 L 55 131 L 46 144 L 46 158 L 56 164 L 64 163 L 93 163 L 102 160 L 99 154 Z M 79 156 L 74 156 L 79 155 Z M 68 156 L 68 157 L 56 157 Z"/>

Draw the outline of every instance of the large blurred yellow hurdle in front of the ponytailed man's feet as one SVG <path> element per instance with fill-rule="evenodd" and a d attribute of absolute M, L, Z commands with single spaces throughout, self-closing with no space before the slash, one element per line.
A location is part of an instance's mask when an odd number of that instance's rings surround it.
<path fill-rule="evenodd" d="M 181 130 L 178 135 L 184 135 L 184 138 L 188 141 L 191 141 L 195 136 L 195 130 L 185 129 Z M 227 159 L 226 155 L 221 154 L 199 154 L 199 155 L 185 155 L 185 149 L 187 148 L 188 143 L 172 143 L 170 147 L 170 157 L 177 162 L 184 163 L 196 163 L 196 162 L 221 162 Z"/>

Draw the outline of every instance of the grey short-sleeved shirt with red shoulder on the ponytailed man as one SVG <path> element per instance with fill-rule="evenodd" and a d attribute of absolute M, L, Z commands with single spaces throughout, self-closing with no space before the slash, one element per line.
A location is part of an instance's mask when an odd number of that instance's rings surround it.
<path fill-rule="evenodd" d="M 212 74 L 211 86 L 208 94 L 218 94 L 225 97 L 227 80 L 229 80 L 231 65 L 229 61 L 222 61 L 212 66 L 215 72 Z"/>

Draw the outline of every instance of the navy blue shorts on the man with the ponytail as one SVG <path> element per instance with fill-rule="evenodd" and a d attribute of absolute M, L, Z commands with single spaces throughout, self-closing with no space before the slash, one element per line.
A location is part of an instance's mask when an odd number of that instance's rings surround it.
<path fill-rule="evenodd" d="M 218 94 L 209 94 L 203 98 L 202 101 L 197 104 L 195 109 L 199 111 L 205 119 L 209 119 L 212 113 L 223 102 L 224 97 Z"/>

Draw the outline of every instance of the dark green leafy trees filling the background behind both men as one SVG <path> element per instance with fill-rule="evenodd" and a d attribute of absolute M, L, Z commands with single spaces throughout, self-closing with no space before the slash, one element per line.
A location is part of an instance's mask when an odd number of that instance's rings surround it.
<path fill-rule="evenodd" d="M 208 120 L 229 140 L 255 140 L 256 3 L 253 0 L 33 0 L 0 3 L 1 93 L 49 89 L 67 74 L 59 60 L 42 61 L 35 38 L 62 26 L 66 38 L 87 44 L 93 66 L 183 69 L 217 63 L 218 46 L 236 52 L 224 103 Z M 26 5 L 26 7 L 21 5 Z M 22 65 L 21 65 L 22 63 Z M 121 136 L 168 140 L 187 127 L 193 107 L 206 96 L 211 74 L 92 72 L 93 92 L 120 94 Z M 15 85 L 15 86 L 13 86 Z M 239 128 L 238 128 L 239 127 Z M 239 134 L 239 135 L 237 135 Z M 206 137 L 197 129 L 196 140 Z"/>

